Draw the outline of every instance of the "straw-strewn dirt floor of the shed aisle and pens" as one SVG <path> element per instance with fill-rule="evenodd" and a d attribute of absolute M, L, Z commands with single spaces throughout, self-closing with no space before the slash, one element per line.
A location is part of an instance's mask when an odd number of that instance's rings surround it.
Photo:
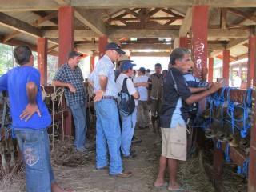
<path fill-rule="evenodd" d="M 161 146 L 155 145 L 156 136 L 150 129 L 135 130 L 135 133 L 138 138 L 142 139 L 141 143 L 132 145 L 132 149 L 136 150 L 138 157 L 122 161 L 125 170 L 130 170 L 134 174 L 130 178 L 110 177 L 108 170 L 95 170 L 95 150 L 91 150 L 87 155 L 78 154 L 73 150 L 73 138 L 66 138 L 64 142 L 55 140 L 54 150 L 51 152 L 51 162 L 59 186 L 75 191 L 167 191 L 166 189 L 155 189 L 153 186 L 161 154 Z M 215 191 L 212 184 L 208 182 L 199 159 L 198 155 L 194 153 L 186 162 L 180 164 L 178 181 L 190 184 L 190 191 Z M 230 173 L 228 177 L 230 177 Z M 231 177 L 233 181 L 234 177 Z M 166 181 L 168 178 L 166 173 Z M 242 178 L 238 178 L 239 182 L 239 179 L 242 180 Z M 18 173 L 17 171 L 10 173 L 9 176 L 5 176 L 1 180 L 0 191 L 25 191 L 24 168 Z M 230 186 L 230 183 L 227 185 Z M 246 191 L 244 190 L 246 189 L 245 182 L 241 189 L 243 190 L 239 190 L 238 187 L 232 188 L 231 184 L 231 188 L 227 191 Z"/>

